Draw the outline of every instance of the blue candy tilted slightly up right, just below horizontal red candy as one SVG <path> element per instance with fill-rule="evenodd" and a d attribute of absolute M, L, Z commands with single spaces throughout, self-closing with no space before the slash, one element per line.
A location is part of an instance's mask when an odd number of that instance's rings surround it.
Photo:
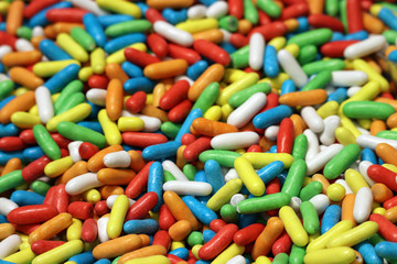
<path fill-rule="evenodd" d="M 162 144 L 147 146 L 142 151 L 142 157 L 147 161 L 171 158 L 176 156 L 176 151 L 181 145 L 181 142 L 169 141 Z"/>

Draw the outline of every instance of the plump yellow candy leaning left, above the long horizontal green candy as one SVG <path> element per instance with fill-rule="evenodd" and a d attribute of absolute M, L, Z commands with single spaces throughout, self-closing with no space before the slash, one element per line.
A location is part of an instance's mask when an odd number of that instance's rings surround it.
<path fill-rule="evenodd" d="M 239 178 L 243 180 L 250 194 L 261 196 L 265 194 L 265 184 L 255 172 L 250 162 L 244 156 L 235 160 L 234 166 Z"/>

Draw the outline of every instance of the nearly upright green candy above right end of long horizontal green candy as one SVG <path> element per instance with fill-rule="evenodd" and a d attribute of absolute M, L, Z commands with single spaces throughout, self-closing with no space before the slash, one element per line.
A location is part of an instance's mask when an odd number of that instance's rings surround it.
<path fill-rule="evenodd" d="M 307 175 L 307 168 L 308 166 L 303 160 L 294 160 L 288 170 L 281 193 L 288 194 L 290 197 L 298 196 Z"/>

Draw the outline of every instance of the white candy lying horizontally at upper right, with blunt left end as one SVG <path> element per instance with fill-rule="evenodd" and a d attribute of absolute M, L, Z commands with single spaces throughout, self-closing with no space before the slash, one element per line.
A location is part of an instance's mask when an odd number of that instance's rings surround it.
<path fill-rule="evenodd" d="M 362 70 L 335 70 L 332 72 L 331 84 L 333 86 L 362 86 L 368 80 L 368 75 Z"/>

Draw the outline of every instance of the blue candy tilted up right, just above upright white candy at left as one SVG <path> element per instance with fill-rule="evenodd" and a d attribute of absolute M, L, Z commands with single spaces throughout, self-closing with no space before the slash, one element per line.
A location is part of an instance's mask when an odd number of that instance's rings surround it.
<path fill-rule="evenodd" d="M 44 86 L 49 88 L 52 95 L 60 92 L 68 82 L 77 78 L 81 67 L 77 64 L 71 64 L 56 73 Z"/>

